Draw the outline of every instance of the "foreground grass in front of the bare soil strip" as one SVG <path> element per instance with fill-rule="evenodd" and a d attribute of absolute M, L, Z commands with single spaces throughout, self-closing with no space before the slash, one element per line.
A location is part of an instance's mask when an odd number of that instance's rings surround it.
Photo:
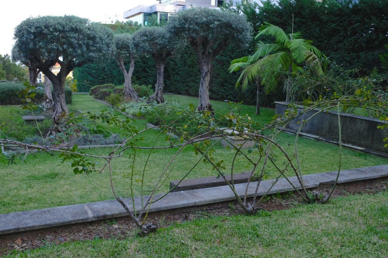
<path fill-rule="evenodd" d="M 17 257 L 386 257 L 387 225 L 385 191 L 254 216 L 202 218 L 142 238 L 131 232 L 124 240 L 49 244 Z"/>

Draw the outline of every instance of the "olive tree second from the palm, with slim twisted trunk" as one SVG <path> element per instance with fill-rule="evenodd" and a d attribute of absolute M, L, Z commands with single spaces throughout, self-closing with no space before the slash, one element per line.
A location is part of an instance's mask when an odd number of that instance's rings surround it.
<path fill-rule="evenodd" d="M 133 33 L 133 46 L 139 53 L 150 55 L 156 63 L 155 93 L 149 101 L 165 102 L 163 98 L 164 70 L 167 58 L 174 55 L 184 44 L 165 27 L 144 27 Z"/>

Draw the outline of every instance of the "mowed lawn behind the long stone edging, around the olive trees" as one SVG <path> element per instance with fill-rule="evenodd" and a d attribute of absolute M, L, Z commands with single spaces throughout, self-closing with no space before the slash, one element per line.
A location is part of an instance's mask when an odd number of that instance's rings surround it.
<path fill-rule="evenodd" d="M 182 107 L 187 107 L 189 103 L 197 105 L 197 98 L 167 95 L 166 100 L 177 101 L 181 103 Z M 211 101 L 213 107 L 222 112 L 227 108 L 227 103 L 223 101 Z M 270 121 L 274 115 L 274 110 L 269 108 L 262 108 L 262 115 L 256 116 L 255 107 L 248 105 L 241 105 L 242 114 L 249 114 L 252 119 L 257 120 L 261 124 Z M 81 110 L 98 112 L 106 109 L 107 106 L 99 103 L 88 95 L 74 95 L 73 103 L 69 107 L 70 110 Z M 124 116 L 121 115 L 122 118 Z M 1 121 L 0 121 L 1 122 Z M 136 120 L 131 122 L 137 126 L 138 129 L 145 128 L 145 120 Z M 125 136 L 125 132 L 116 128 L 105 125 L 113 133 L 119 133 Z M 145 146 L 151 146 L 152 142 L 160 134 L 159 131 L 147 131 L 143 137 L 144 141 L 140 143 Z M 288 134 L 280 134 L 278 138 L 279 144 L 286 150 L 293 151 L 294 136 Z M 139 143 L 138 143 L 139 144 Z M 165 136 L 161 136 L 158 144 L 168 144 L 165 141 Z M 225 174 L 230 174 L 230 165 L 234 157 L 234 152 L 230 149 L 225 149 L 221 144 L 215 145 L 216 160 L 223 160 L 226 166 Z M 201 158 L 196 156 L 194 148 L 188 146 L 181 155 L 177 157 L 175 162 L 168 170 L 168 178 L 163 178 L 163 185 L 158 192 L 165 192 L 168 190 L 169 182 L 171 180 L 182 178 L 189 169 Z M 112 149 L 91 149 L 85 152 L 95 155 L 108 155 Z M 150 156 L 148 165 L 145 169 L 144 177 L 144 194 L 154 187 L 159 179 L 161 171 L 165 168 L 170 158 L 175 154 L 176 150 L 154 150 Z M 247 151 L 247 150 L 246 150 Z M 137 151 L 137 159 L 135 163 L 134 180 L 141 179 L 144 164 L 147 160 L 149 151 Z M 301 156 L 301 169 L 303 174 L 312 174 L 319 172 L 327 172 L 338 169 L 338 146 L 318 142 L 310 139 L 301 138 L 299 140 L 299 153 Z M 284 157 L 277 153 L 277 162 L 282 165 Z M 122 158 L 113 161 L 113 177 L 116 191 L 119 196 L 129 197 L 130 193 L 130 179 L 123 177 L 130 173 L 131 160 L 129 158 L 130 151 L 128 151 Z M 257 156 L 255 150 L 249 154 Z M 342 169 L 351 169 L 357 167 L 366 167 L 373 165 L 382 165 L 387 163 L 387 159 L 376 157 L 366 153 L 360 153 L 353 150 L 343 149 L 343 163 Z M 94 161 L 94 159 L 91 159 Z M 97 165 L 102 167 L 103 160 Z M 248 163 L 240 156 L 236 159 L 234 172 L 244 172 L 249 170 Z M 267 165 L 268 178 L 275 178 L 277 172 L 270 164 Z M 293 175 L 291 171 L 288 175 Z M 217 172 L 213 171 L 208 164 L 199 162 L 197 167 L 192 170 L 187 178 L 215 176 Z M 59 205 L 71 205 L 77 203 L 87 203 L 92 201 L 101 201 L 112 199 L 112 191 L 109 184 L 109 175 L 107 171 L 99 173 L 91 173 L 89 175 L 81 174 L 74 175 L 73 168 L 65 162 L 61 163 L 61 159 L 57 156 L 51 157 L 48 154 L 40 154 L 36 156 L 29 156 L 26 162 L 17 162 L 17 165 L 6 165 L 0 163 L 0 213 L 17 212 L 23 210 L 32 210 L 39 208 L 47 208 Z M 140 195 L 140 182 L 135 183 L 133 191 L 136 195 Z"/>

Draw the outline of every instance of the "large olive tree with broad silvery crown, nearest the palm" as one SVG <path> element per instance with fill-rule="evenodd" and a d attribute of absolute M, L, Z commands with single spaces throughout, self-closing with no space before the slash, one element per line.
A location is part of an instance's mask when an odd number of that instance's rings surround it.
<path fill-rule="evenodd" d="M 251 24 L 245 15 L 196 7 L 177 12 L 168 22 L 167 29 L 175 37 L 187 39 L 194 48 L 201 67 L 197 110 L 212 110 L 209 101 L 211 63 L 230 44 L 238 48 L 247 46 L 251 41 Z"/>

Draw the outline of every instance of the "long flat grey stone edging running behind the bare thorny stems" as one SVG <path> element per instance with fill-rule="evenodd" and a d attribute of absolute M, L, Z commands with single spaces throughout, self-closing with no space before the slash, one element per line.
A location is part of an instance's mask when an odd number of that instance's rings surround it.
<path fill-rule="evenodd" d="M 333 183 L 337 171 L 303 175 L 306 188 L 314 188 L 320 184 Z M 364 167 L 359 169 L 341 170 L 338 183 L 354 182 L 367 179 L 375 179 L 388 176 L 388 165 Z M 265 180 L 260 183 L 258 196 L 265 194 L 272 186 L 275 179 Z M 296 177 L 289 177 L 293 184 L 301 189 Z M 244 196 L 246 183 L 236 184 L 235 189 L 240 197 Z M 256 184 L 251 183 L 248 187 L 248 197 L 252 197 L 256 190 Z M 293 191 L 294 188 L 285 178 L 279 179 L 268 194 Z M 156 197 L 161 196 L 161 194 Z M 147 199 L 148 196 L 144 196 Z M 236 200 L 234 193 L 229 186 L 217 186 L 188 191 L 179 191 L 167 194 L 164 198 L 151 205 L 149 212 L 184 208 L 223 201 Z M 123 198 L 123 201 L 132 207 L 131 198 Z M 141 199 L 135 198 L 135 206 L 140 210 Z M 132 210 L 132 208 L 131 208 Z M 24 212 L 13 212 L 0 214 L 0 235 L 13 232 L 22 232 L 33 229 L 42 229 L 60 225 L 68 225 L 79 222 L 90 222 L 106 218 L 123 217 L 128 214 L 123 206 L 116 200 L 98 201 L 93 203 L 75 204 L 45 208 L 40 210 L 28 210 Z"/>

